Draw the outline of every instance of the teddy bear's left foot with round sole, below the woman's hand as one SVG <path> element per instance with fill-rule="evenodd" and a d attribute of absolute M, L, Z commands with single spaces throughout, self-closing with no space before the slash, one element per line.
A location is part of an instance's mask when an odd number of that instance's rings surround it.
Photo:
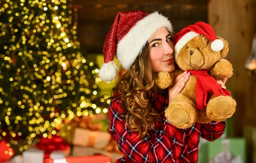
<path fill-rule="evenodd" d="M 198 118 L 197 110 L 185 102 L 171 103 L 166 109 L 165 115 L 167 120 L 179 129 L 191 127 Z"/>

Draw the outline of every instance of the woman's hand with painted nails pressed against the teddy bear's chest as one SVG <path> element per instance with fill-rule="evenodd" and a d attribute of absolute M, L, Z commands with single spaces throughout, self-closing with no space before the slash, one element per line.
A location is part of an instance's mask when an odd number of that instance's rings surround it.
<path fill-rule="evenodd" d="M 172 86 L 169 87 L 169 103 L 182 91 L 186 82 L 189 80 L 190 73 L 183 72 L 176 77 Z"/>

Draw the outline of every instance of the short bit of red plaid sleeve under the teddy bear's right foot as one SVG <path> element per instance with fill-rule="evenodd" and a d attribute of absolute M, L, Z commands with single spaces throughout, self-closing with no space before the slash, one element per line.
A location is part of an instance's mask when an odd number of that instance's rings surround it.
<path fill-rule="evenodd" d="M 221 122 L 212 121 L 210 123 L 202 124 L 201 137 L 208 141 L 214 141 L 221 137 L 225 132 L 226 120 Z"/>

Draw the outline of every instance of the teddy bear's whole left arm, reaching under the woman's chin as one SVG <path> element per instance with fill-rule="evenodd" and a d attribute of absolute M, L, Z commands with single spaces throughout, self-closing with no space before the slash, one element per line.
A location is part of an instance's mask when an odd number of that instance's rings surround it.
<path fill-rule="evenodd" d="M 182 72 L 183 71 L 180 69 L 175 69 L 172 72 L 167 72 L 167 71 L 159 72 L 155 82 L 157 86 L 159 86 L 159 88 L 166 89 L 167 87 L 172 86 L 172 84 L 175 81 L 175 78 L 179 74 L 182 74 Z"/>

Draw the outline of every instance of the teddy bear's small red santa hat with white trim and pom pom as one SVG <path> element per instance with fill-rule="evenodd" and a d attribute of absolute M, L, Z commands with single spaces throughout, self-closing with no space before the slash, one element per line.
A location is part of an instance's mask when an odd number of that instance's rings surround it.
<path fill-rule="evenodd" d="M 177 55 L 179 54 L 180 49 L 186 45 L 189 40 L 198 36 L 199 34 L 204 34 L 205 37 L 212 41 L 211 49 L 213 51 L 221 51 L 223 49 L 224 43 L 222 40 L 216 39 L 215 31 L 212 29 L 212 26 L 204 22 L 197 22 L 194 25 L 183 28 L 180 32 L 174 35 L 173 43 L 175 45 L 175 62 L 177 60 Z"/>

